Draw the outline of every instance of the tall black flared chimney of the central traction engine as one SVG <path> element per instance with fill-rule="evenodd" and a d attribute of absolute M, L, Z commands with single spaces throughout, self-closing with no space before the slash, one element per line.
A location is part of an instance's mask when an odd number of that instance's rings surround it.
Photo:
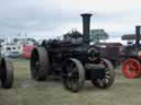
<path fill-rule="evenodd" d="M 89 45 L 89 26 L 90 26 L 90 13 L 82 14 L 83 16 L 83 35 L 84 44 Z"/>

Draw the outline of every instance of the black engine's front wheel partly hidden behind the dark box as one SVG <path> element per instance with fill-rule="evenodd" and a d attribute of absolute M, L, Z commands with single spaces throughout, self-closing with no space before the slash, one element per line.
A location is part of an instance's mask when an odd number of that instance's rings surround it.
<path fill-rule="evenodd" d="M 91 80 L 91 82 L 96 88 L 107 89 L 115 82 L 115 70 L 111 62 L 107 59 L 102 59 L 100 63 L 106 68 L 106 77 L 104 79 Z"/>

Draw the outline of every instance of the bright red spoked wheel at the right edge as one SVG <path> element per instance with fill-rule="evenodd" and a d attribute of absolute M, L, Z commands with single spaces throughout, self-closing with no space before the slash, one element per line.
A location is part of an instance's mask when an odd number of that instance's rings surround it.
<path fill-rule="evenodd" d="M 123 62 L 122 71 L 128 79 L 134 79 L 141 73 L 140 62 L 137 59 L 129 58 Z"/>

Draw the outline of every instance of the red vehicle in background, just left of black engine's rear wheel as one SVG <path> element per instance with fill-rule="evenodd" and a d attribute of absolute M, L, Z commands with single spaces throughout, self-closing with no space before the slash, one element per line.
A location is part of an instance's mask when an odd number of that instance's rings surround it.
<path fill-rule="evenodd" d="M 31 51 L 34 49 L 35 46 L 33 45 L 26 45 L 23 47 L 23 52 L 22 52 L 22 57 L 25 59 L 30 59 L 31 58 Z"/>

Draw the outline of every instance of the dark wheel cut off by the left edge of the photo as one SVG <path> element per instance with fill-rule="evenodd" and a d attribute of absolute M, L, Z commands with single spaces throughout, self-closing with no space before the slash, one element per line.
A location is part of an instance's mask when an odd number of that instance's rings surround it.
<path fill-rule="evenodd" d="M 10 59 L 2 58 L 1 60 L 1 86 L 4 89 L 12 88 L 13 84 L 13 65 Z"/>

